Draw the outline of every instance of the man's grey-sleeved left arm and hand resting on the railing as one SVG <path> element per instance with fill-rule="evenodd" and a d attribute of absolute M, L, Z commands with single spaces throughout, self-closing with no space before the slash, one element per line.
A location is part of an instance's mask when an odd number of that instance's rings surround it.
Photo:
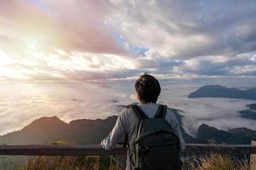
<path fill-rule="evenodd" d="M 105 150 L 111 150 L 118 143 L 119 139 L 125 135 L 123 114 L 121 114 L 112 131 L 108 134 L 108 137 L 101 142 L 102 148 Z"/>

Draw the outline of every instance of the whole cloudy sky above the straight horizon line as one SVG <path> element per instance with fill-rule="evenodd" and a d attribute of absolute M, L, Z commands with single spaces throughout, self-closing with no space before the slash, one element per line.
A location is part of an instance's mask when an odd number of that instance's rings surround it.
<path fill-rule="evenodd" d="M 3 0 L 0 81 L 256 76 L 256 1 Z"/>

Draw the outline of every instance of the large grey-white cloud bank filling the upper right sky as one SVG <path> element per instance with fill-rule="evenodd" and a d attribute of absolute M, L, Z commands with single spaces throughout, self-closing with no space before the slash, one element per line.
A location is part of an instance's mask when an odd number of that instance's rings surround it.
<path fill-rule="evenodd" d="M 128 42 L 172 58 L 234 55 L 256 49 L 256 3 L 110 1 L 108 20 Z M 230 8 L 232 5 L 232 8 Z"/>

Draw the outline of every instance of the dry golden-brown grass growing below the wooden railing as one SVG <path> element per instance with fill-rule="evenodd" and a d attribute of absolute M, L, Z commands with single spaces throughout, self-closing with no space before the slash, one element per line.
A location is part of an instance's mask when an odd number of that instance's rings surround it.
<path fill-rule="evenodd" d="M 119 160 L 111 156 L 33 156 L 19 170 L 121 170 Z M 184 163 L 183 170 L 250 170 L 247 160 L 230 156 L 211 155 L 192 157 Z"/>

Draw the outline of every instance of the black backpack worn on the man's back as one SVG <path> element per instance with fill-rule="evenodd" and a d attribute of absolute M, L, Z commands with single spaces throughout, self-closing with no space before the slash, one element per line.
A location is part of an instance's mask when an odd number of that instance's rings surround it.
<path fill-rule="evenodd" d="M 179 139 L 166 121 L 166 105 L 160 105 L 154 118 L 148 118 L 137 106 L 129 105 L 139 119 L 130 153 L 131 168 L 135 170 L 179 170 Z M 127 135 L 125 144 L 127 143 Z M 124 147 L 125 147 L 124 144 Z M 129 149 L 131 152 L 131 150 Z"/>

